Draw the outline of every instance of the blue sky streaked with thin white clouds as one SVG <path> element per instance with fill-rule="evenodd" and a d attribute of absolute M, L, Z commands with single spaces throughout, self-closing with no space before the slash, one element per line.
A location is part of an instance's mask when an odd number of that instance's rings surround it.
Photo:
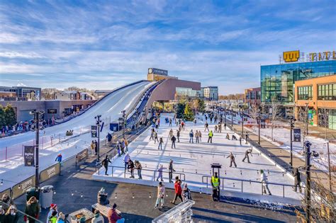
<path fill-rule="evenodd" d="M 148 67 L 218 85 L 259 86 L 286 50 L 336 50 L 336 1 L 0 1 L 0 85 L 91 89 Z"/>

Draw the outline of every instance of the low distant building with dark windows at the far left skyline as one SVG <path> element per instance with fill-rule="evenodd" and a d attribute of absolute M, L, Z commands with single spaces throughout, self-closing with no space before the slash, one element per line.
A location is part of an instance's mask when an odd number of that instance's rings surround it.
<path fill-rule="evenodd" d="M 1 101 L 40 101 L 41 88 L 28 86 L 0 86 Z"/>

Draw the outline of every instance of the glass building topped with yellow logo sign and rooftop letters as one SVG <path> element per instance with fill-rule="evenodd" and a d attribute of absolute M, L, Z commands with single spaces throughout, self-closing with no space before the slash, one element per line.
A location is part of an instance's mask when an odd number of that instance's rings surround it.
<path fill-rule="evenodd" d="M 336 55 L 333 52 L 284 52 L 279 64 L 261 66 L 262 103 L 281 103 L 286 116 L 293 115 L 296 81 L 336 74 Z"/>

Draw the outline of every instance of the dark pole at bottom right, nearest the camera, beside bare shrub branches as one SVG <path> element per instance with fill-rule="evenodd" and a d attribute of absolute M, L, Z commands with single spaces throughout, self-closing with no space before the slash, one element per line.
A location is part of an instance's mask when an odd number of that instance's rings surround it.
<path fill-rule="evenodd" d="M 305 193 L 305 200 L 306 200 L 306 222 L 310 223 L 310 146 L 311 143 L 306 141 L 303 143 L 305 146 L 306 151 L 306 193 Z"/>

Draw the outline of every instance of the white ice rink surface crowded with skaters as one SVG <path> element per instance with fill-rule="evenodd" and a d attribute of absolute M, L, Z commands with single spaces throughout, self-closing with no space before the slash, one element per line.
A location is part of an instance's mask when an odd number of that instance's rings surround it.
<path fill-rule="evenodd" d="M 206 141 L 208 139 L 208 132 L 204 132 L 203 123 L 198 123 L 194 125 L 192 122 L 186 123 L 186 130 L 181 132 L 180 142 L 177 142 L 177 148 L 172 149 L 172 143 L 169 141 L 169 130 L 174 130 L 174 135 L 176 135 L 177 127 L 173 123 L 173 127 L 169 127 L 168 124 L 164 123 L 164 118 L 167 114 L 163 114 L 161 118 L 161 125 L 158 130 L 158 137 L 163 137 L 164 144 L 162 150 L 158 150 L 158 144 L 150 139 L 150 129 L 146 130 L 142 135 L 135 139 L 129 145 L 129 154 L 133 161 L 139 160 L 142 164 L 142 179 L 148 180 L 148 185 L 151 185 L 154 180 L 154 170 L 157 170 L 160 164 L 163 164 L 165 171 L 169 166 L 169 161 L 172 159 L 174 161 L 174 169 L 177 171 L 174 173 L 174 177 L 178 176 L 179 173 L 185 174 L 186 183 L 193 190 L 199 191 L 200 188 L 205 188 L 206 183 L 202 183 L 202 176 L 211 176 L 211 164 L 219 163 L 222 164 L 222 169 L 220 170 L 220 176 L 228 178 L 237 178 L 235 181 L 225 180 L 224 190 L 241 191 L 241 182 L 239 179 L 259 181 L 260 169 L 264 169 L 265 173 L 269 178 L 269 182 L 272 183 L 286 183 L 293 185 L 293 178 L 279 167 L 276 167 L 269 159 L 265 158 L 257 151 L 253 151 L 253 156 L 250 157 L 251 164 L 243 163 L 242 159 L 245 156 L 245 151 L 250 149 L 248 144 L 242 142 L 240 146 L 239 140 L 233 141 L 225 139 L 226 133 L 229 133 L 230 137 L 233 134 L 229 129 L 223 130 L 222 133 L 214 132 L 213 143 L 208 144 Z M 168 115 L 171 117 L 171 115 Z M 199 144 L 189 143 L 189 131 L 190 130 L 201 131 L 202 142 Z M 210 125 L 210 129 L 214 130 L 214 125 Z M 239 139 L 239 137 L 237 137 Z M 195 139 L 194 139 L 195 140 Z M 233 152 L 235 155 L 235 161 L 237 163 L 237 168 L 230 168 L 230 159 L 226 157 Z M 124 163 L 123 156 L 115 157 L 112 161 L 111 166 L 118 166 L 121 168 L 113 168 L 113 177 L 123 178 L 124 175 Z M 112 170 L 108 171 L 111 178 Z M 101 168 L 99 175 L 103 175 L 104 170 Z M 126 173 L 126 178 L 130 177 L 130 173 Z M 157 174 L 156 174 L 157 176 Z M 135 170 L 135 178 L 137 178 L 137 172 Z M 104 178 L 108 180 L 108 178 Z M 112 178 L 111 178 L 112 180 Z M 168 181 L 168 173 L 164 173 L 164 181 Z M 206 181 L 206 179 L 205 179 Z M 210 181 L 209 181 L 210 182 Z M 136 183 L 133 182 L 133 183 Z M 279 185 L 269 185 L 271 193 L 273 195 L 282 196 L 282 186 Z M 202 190 L 202 189 L 201 189 Z M 243 184 L 244 192 L 249 193 L 261 193 L 261 185 L 259 183 L 249 183 L 245 182 Z M 301 194 L 294 193 L 293 188 L 285 188 L 285 196 L 288 198 L 300 199 Z"/>

